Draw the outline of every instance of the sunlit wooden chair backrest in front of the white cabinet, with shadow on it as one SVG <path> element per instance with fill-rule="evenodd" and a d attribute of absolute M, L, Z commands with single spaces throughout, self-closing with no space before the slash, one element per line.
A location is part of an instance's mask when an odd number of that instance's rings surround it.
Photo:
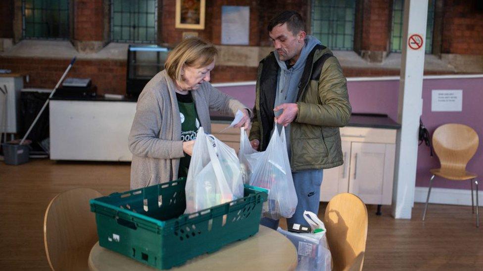
<path fill-rule="evenodd" d="M 337 194 L 327 205 L 324 224 L 334 261 L 334 270 L 341 271 L 349 268 L 357 256 L 366 250 L 366 205 L 354 194 Z"/>

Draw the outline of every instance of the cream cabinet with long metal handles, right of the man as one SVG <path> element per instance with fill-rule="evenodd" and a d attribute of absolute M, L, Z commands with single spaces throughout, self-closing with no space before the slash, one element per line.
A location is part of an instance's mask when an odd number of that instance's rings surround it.
<path fill-rule="evenodd" d="M 341 128 L 344 164 L 324 170 L 321 201 L 349 192 L 367 204 L 391 204 L 396 130 Z"/>

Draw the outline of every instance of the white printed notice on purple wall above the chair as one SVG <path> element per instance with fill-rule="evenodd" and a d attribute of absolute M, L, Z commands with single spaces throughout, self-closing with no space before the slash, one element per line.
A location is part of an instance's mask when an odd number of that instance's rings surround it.
<path fill-rule="evenodd" d="M 463 90 L 433 90 L 433 92 L 431 93 L 431 111 L 463 111 Z"/>

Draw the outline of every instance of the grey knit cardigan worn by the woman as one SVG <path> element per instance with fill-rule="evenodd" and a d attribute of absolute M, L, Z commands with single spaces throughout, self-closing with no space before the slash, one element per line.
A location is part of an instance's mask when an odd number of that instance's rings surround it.
<path fill-rule="evenodd" d="M 133 154 L 131 189 L 178 178 L 180 157 L 185 154 L 175 89 L 173 80 L 166 71 L 162 71 L 146 84 L 139 96 L 128 139 L 129 150 Z M 235 116 L 239 109 L 247 108 L 209 82 L 202 83 L 191 93 L 200 125 L 207 133 L 211 133 L 209 110 Z"/>

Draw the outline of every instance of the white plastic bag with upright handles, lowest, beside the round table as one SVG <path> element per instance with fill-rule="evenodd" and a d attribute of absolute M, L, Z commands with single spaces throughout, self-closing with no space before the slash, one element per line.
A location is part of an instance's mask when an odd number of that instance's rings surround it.
<path fill-rule="evenodd" d="M 303 217 L 312 228 L 322 229 L 317 233 L 287 232 L 281 228 L 277 232 L 284 234 L 295 246 L 298 255 L 297 271 L 332 270 L 332 255 L 327 243 L 324 223 L 312 212 L 303 212 Z"/>

